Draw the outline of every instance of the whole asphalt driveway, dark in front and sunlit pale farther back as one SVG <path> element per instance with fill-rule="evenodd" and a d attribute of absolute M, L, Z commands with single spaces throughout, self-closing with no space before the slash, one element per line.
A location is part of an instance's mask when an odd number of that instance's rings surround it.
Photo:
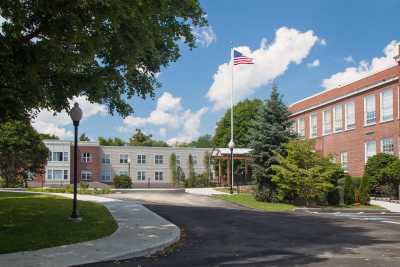
<path fill-rule="evenodd" d="M 400 266 L 400 225 L 329 214 L 263 213 L 188 194 L 114 195 L 183 229 L 171 251 L 88 266 Z"/>

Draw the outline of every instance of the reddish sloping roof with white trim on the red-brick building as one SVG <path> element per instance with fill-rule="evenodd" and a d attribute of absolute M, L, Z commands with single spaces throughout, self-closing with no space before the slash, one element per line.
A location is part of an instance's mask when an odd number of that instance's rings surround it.
<path fill-rule="evenodd" d="M 309 109 L 330 104 L 339 99 L 346 98 L 360 92 L 384 85 L 388 82 L 398 80 L 400 76 L 400 65 L 396 65 L 377 72 L 350 84 L 322 91 L 310 97 L 303 98 L 289 106 L 292 116 L 305 112 Z"/>

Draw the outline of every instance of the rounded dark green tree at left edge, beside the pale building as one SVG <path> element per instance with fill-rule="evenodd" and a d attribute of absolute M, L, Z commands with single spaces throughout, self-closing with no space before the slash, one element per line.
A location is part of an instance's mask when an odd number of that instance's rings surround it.
<path fill-rule="evenodd" d="M 29 123 L 0 123 L 0 175 L 5 178 L 6 186 L 42 173 L 47 157 L 47 147 Z"/>

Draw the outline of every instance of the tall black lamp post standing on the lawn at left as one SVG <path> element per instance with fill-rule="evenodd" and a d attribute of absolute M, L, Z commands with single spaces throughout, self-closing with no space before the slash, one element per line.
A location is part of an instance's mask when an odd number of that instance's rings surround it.
<path fill-rule="evenodd" d="M 75 103 L 71 109 L 70 116 L 74 123 L 75 136 L 74 136 L 74 199 L 72 201 L 72 214 L 71 219 L 74 221 L 81 221 L 77 210 L 77 189 L 78 189 L 78 126 L 79 121 L 82 119 L 82 110 L 79 108 L 79 104 Z"/>

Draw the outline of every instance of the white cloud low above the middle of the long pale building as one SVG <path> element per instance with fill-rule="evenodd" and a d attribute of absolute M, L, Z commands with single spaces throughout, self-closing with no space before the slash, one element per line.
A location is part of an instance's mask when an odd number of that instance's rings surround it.
<path fill-rule="evenodd" d="M 176 137 L 168 140 L 169 144 L 190 142 L 200 135 L 201 118 L 207 111 L 206 107 L 196 112 L 184 109 L 180 97 L 164 92 L 157 100 L 156 109 L 148 117 L 128 116 L 123 120 L 119 131 L 128 132 L 147 125 L 163 126 L 159 130 L 162 138 L 167 136 L 167 129 L 179 131 Z"/>

